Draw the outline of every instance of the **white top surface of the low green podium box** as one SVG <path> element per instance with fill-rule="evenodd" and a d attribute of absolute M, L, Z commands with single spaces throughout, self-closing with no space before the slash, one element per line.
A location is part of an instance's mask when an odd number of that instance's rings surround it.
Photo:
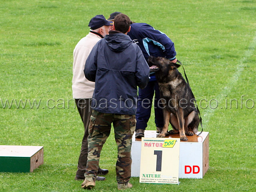
<path fill-rule="evenodd" d="M 31 157 L 43 146 L 0 145 L 0 157 Z"/>

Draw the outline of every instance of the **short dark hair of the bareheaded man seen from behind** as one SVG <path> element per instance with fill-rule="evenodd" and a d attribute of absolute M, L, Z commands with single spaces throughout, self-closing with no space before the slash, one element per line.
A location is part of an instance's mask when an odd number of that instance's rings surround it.
<path fill-rule="evenodd" d="M 114 20 L 115 30 L 122 33 L 128 32 L 130 28 L 131 20 L 126 14 L 118 14 Z"/>

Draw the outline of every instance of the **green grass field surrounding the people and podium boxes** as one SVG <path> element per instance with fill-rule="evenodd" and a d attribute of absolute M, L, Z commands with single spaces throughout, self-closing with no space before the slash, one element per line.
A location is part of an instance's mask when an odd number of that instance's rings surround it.
<path fill-rule="evenodd" d="M 0 192 L 84 191 L 74 180 L 83 126 L 72 100 L 73 50 L 90 18 L 115 11 L 172 39 L 210 132 L 203 179 L 132 178 L 127 191 L 256 191 L 256 0 L 0 0 L 0 145 L 44 146 L 34 172 L 0 173 Z M 93 191 L 118 191 L 115 163 L 112 132 L 100 161 L 110 173 Z"/>

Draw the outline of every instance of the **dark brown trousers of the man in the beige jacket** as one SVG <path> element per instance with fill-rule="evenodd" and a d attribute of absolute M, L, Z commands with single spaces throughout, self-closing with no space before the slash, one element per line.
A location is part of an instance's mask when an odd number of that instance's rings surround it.
<path fill-rule="evenodd" d="M 77 165 L 77 175 L 83 176 L 86 171 L 87 164 L 87 155 L 88 155 L 88 126 L 90 122 L 90 116 L 92 114 L 92 110 L 90 109 L 90 99 L 75 99 L 76 107 L 84 124 L 84 137 L 82 140 L 82 146 L 80 151 L 80 156 L 78 159 Z"/>

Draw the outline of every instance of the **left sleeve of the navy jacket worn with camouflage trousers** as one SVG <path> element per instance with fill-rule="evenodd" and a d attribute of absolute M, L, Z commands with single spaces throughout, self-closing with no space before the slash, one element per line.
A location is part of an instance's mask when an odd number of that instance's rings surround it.
<path fill-rule="evenodd" d="M 92 48 L 84 66 L 84 75 L 89 81 L 95 82 L 97 71 L 98 42 Z"/>

